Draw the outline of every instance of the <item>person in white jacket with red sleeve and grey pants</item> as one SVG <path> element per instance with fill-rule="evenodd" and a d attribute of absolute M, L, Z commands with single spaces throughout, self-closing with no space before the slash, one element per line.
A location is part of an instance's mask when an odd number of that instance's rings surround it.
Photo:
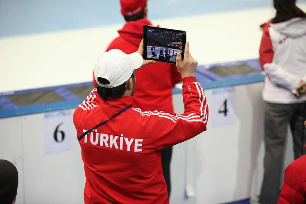
<path fill-rule="evenodd" d="M 251 203 L 277 203 L 281 189 L 283 152 L 288 125 L 293 136 L 294 157 L 304 154 L 306 107 L 306 14 L 296 0 L 274 0 L 276 16 L 263 28 L 260 63 L 266 73 L 263 99 L 264 176 L 260 195 Z"/>

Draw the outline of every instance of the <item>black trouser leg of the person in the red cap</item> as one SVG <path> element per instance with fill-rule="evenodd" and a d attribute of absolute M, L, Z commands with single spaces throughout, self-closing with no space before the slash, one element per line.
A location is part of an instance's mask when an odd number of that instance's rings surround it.
<path fill-rule="evenodd" d="M 172 157 L 172 147 L 161 150 L 161 156 L 162 156 L 163 174 L 168 189 L 168 197 L 170 197 L 170 192 L 171 192 L 170 162 Z"/>

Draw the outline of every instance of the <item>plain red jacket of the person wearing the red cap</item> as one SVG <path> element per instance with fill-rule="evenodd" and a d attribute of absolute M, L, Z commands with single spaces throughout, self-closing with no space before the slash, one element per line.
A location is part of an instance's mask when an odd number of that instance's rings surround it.
<path fill-rule="evenodd" d="M 127 22 L 119 37 L 113 40 L 106 51 L 120 49 L 130 54 L 138 50 L 143 38 L 143 25 L 152 25 L 147 19 Z M 181 81 L 181 74 L 173 64 L 157 62 L 135 71 L 136 87 L 133 106 L 149 111 L 173 113 L 172 89 Z M 95 79 L 93 80 L 96 85 Z M 97 86 L 97 85 L 96 85 Z"/>

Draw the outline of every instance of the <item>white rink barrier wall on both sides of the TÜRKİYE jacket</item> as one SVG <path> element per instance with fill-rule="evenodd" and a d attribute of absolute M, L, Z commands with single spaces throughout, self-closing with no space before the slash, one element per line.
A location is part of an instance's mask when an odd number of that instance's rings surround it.
<path fill-rule="evenodd" d="M 259 191 L 263 173 L 262 83 L 234 88 L 236 106 L 229 111 L 235 112 L 235 124 L 213 128 L 210 119 L 217 113 L 210 112 L 206 132 L 174 147 L 171 203 L 224 203 Z M 205 91 L 209 106 L 212 91 Z M 182 95 L 173 97 L 175 111 L 183 112 Z M 45 154 L 43 121 L 44 113 L 0 120 L 5 136 L 0 143 L 1 158 L 14 161 L 20 175 L 17 203 L 83 203 L 85 177 L 78 140 L 73 134 L 71 151 Z M 74 131 L 72 115 L 70 122 Z M 291 153 L 286 163 L 292 157 Z M 186 196 L 188 185 L 194 190 L 193 197 Z"/>

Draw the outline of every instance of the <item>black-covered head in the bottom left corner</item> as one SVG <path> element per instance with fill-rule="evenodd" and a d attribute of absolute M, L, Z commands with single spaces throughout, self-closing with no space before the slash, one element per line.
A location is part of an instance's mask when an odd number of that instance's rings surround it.
<path fill-rule="evenodd" d="M 18 171 L 14 164 L 0 160 L 0 200 L 3 204 L 11 204 L 17 196 Z"/>

